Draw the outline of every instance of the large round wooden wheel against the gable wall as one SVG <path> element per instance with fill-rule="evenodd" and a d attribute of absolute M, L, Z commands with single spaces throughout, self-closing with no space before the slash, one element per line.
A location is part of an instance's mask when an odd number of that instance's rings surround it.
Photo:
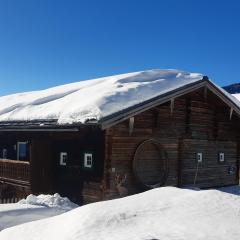
<path fill-rule="evenodd" d="M 168 176 L 168 157 L 156 139 L 143 141 L 133 158 L 133 172 L 137 181 L 145 188 L 160 187 Z"/>

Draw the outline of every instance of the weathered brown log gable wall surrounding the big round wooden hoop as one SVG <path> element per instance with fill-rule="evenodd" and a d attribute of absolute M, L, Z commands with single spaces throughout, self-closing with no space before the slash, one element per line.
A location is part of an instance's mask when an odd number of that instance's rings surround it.
<path fill-rule="evenodd" d="M 172 107 L 168 102 L 147 110 L 134 117 L 132 133 L 129 120 L 108 129 L 105 173 L 110 179 L 110 191 L 117 191 L 116 174 L 127 174 L 126 186 L 130 194 L 143 189 L 133 166 L 136 149 L 148 139 L 156 140 L 167 156 L 168 172 L 163 185 L 192 186 L 195 182 L 196 187 L 213 187 L 236 184 L 238 135 L 239 118 L 233 114 L 230 119 L 230 108 L 210 91 L 204 94 L 204 89 L 175 99 Z M 147 151 L 144 154 L 149 154 L 149 159 L 155 161 L 153 154 L 156 153 Z M 203 163 L 197 170 L 198 152 L 203 153 Z M 223 163 L 218 161 L 220 152 L 225 154 Z M 144 154 L 142 160 L 147 160 Z"/>

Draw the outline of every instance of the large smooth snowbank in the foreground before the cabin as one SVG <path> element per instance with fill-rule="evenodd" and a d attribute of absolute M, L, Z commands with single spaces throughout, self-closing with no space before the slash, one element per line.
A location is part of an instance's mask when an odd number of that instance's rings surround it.
<path fill-rule="evenodd" d="M 158 188 L 8 228 L 0 239 L 238 240 L 240 196 L 235 194 Z"/>

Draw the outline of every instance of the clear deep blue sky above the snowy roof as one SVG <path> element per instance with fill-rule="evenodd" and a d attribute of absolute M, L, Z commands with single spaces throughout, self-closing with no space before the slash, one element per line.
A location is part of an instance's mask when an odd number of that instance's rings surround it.
<path fill-rule="evenodd" d="M 238 0 L 0 0 L 0 95 L 152 68 L 240 82 Z"/>

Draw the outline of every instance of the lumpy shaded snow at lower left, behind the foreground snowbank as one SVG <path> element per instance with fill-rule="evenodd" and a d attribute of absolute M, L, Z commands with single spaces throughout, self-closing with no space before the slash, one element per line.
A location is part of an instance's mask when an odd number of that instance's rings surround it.
<path fill-rule="evenodd" d="M 29 195 L 18 203 L 0 204 L 0 231 L 18 224 L 56 216 L 78 207 L 67 198 Z"/>

